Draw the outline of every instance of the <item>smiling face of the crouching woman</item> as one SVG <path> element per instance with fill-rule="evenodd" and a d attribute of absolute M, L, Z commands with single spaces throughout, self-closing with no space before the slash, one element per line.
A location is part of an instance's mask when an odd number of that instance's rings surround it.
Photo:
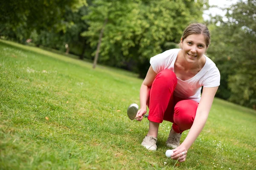
<path fill-rule="evenodd" d="M 187 62 L 198 62 L 207 49 L 203 34 L 191 34 L 184 40 L 181 38 L 180 42 L 183 57 Z"/>

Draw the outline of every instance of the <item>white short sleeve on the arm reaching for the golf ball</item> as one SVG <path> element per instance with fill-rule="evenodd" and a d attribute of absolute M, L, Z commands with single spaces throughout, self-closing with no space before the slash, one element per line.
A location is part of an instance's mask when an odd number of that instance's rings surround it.
<path fill-rule="evenodd" d="M 203 86 L 205 88 L 218 87 L 220 85 L 220 81 L 221 81 L 221 74 L 218 68 L 215 66 L 215 68 L 211 69 L 208 72 L 207 77 L 204 80 Z"/>

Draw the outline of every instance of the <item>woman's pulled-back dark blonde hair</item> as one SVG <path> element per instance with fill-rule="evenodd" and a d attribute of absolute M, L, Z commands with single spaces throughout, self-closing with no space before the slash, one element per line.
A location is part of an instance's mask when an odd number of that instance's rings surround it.
<path fill-rule="evenodd" d="M 182 41 L 186 39 L 189 35 L 192 34 L 202 34 L 204 35 L 206 41 L 206 47 L 208 47 L 211 43 L 210 41 L 210 31 L 206 25 L 201 23 L 192 23 L 184 30 L 182 35 Z M 180 44 L 179 44 L 180 46 Z"/>

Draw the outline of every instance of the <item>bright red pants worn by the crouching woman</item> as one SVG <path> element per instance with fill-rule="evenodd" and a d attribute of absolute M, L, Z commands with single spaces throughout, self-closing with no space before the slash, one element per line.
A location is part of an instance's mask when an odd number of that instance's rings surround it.
<path fill-rule="evenodd" d="M 182 133 L 192 126 L 198 103 L 194 100 L 181 99 L 173 95 L 177 77 L 171 70 L 163 70 L 154 79 L 149 91 L 148 120 L 162 123 L 172 122 L 172 129 Z"/>

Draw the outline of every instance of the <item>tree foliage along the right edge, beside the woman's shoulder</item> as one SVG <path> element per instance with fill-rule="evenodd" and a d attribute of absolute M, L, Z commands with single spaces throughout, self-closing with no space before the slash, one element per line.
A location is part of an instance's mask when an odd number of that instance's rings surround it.
<path fill-rule="evenodd" d="M 209 54 L 221 72 L 221 97 L 256 108 L 256 0 L 227 8 L 227 21 L 213 18 Z"/>

